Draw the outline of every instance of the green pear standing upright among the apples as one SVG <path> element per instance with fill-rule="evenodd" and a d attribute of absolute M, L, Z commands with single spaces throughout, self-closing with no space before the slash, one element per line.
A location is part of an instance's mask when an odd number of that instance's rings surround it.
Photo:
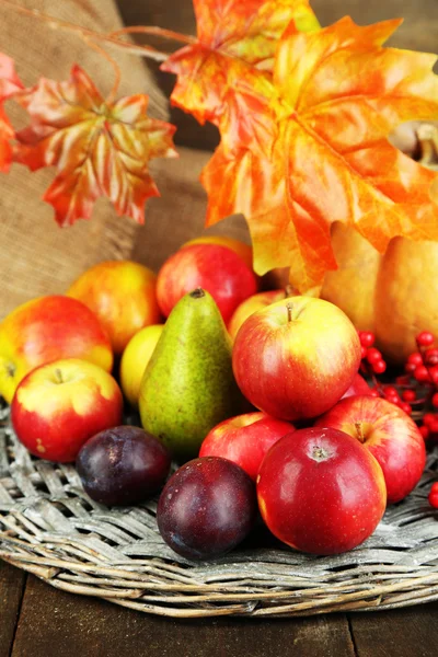
<path fill-rule="evenodd" d="M 231 353 L 214 298 L 201 289 L 183 297 L 146 368 L 139 397 L 143 428 L 180 462 L 197 457 L 210 429 L 241 412 Z"/>

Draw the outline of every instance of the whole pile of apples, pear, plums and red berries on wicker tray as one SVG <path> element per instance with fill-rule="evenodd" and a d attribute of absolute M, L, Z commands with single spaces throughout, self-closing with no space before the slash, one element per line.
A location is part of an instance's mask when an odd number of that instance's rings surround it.
<path fill-rule="evenodd" d="M 96 265 L 0 324 L 0 394 L 31 453 L 76 461 L 96 502 L 162 489 L 159 530 L 187 558 L 232 550 L 258 511 L 284 543 L 341 553 L 420 479 L 433 422 L 410 414 L 419 387 L 435 404 L 438 349 L 423 333 L 383 385 L 372 334 L 327 301 L 260 291 L 251 264 L 244 244 L 200 238 L 158 277 Z"/>

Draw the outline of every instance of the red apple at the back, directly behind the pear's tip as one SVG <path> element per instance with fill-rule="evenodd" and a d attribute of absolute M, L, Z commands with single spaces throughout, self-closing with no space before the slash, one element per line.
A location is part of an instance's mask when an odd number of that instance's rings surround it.
<path fill-rule="evenodd" d="M 210 292 L 228 323 L 238 306 L 257 291 L 257 281 L 234 251 L 201 243 L 180 249 L 160 269 L 157 296 L 162 313 L 169 316 L 180 299 L 196 288 Z"/>

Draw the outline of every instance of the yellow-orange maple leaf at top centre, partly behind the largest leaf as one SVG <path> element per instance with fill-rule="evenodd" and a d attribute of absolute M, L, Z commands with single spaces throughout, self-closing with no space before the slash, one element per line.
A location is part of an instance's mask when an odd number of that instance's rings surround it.
<path fill-rule="evenodd" d="M 309 0 L 194 0 L 193 4 L 198 41 L 161 68 L 178 76 L 172 103 L 200 124 L 221 124 L 230 112 L 230 94 L 235 95 L 235 84 L 242 85 L 247 76 L 252 92 L 260 87 L 263 94 L 278 39 L 291 21 L 302 31 L 320 26 Z M 260 72 L 256 78 L 251 77 L 253 70 Z M 239 117 L 244 120 L 244 113 Z"/>

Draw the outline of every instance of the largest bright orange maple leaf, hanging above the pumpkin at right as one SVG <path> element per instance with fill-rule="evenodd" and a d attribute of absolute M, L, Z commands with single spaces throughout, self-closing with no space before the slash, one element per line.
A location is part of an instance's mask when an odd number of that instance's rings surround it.
<path fill-rule="evenodd" d="M 241 60 L 221 59 L 222 79 L 233 83 L 220 117 L 214 115 L 222 140 L 201 176 L 207 223 L 243 212 L 258 274 L 290 266 L 295 287 L 318 288 L 336 268 L 335 221 L 354 226 L 381 252 L 395 235 L 438 240 L 430 199 L 436 174 L 388 141 L 401 123 L 438 112 L 436 57 L 382 47 L 399 24 L 359 27 L 346 18 L 302 33 L 292 20 L 277 32 L 269 71 L 246 66 L 243 76 Z M 185 50 L 166 69 L 178 73 L 174 102 L 187 101 L 192 111 L 197 96 L 204 100 L 212 67 L 187 79 L 185 68 L 178 70 Z M 221 54 L 209 59 L 216 57 Z"/>

